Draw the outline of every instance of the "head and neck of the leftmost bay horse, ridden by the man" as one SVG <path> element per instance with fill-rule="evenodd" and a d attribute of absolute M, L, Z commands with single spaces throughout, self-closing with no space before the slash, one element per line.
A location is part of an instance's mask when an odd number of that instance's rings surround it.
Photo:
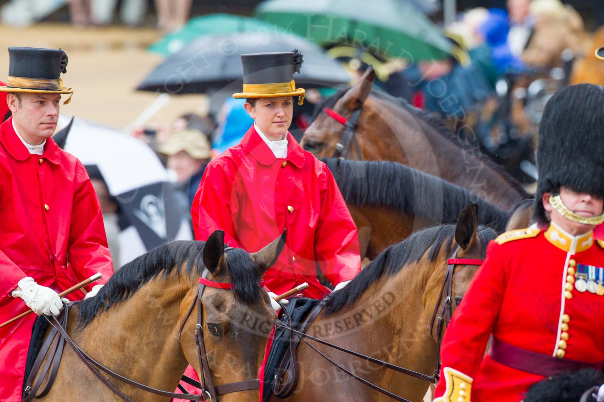
<path fill-rule="evenodd" d="M 256 253 L 225 246 L 222 230 L 207 242 L 153 248 L 116 271 L 95 297 L 74 303 L 66 333 L 92 359 L 145 386 L 172 391 L 190 364 L 216 387 L 206 401 L 257 401 L 252 385 L 277 318 L 262 277 L 285 237 Z M 132 400 L 165 400 L 120 378 L 112 382 Z M 66 352 L 42 399 L 116 400 L 113 392 Z"/>

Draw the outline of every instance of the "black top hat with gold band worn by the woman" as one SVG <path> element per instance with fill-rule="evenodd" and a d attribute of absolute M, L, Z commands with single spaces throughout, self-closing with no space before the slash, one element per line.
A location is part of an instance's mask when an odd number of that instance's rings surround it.
<path fill-rule="evenodd" d="M 293 52 L 268 52 L 242 54 L 243 92 L 233 98 L 273 98 L 276 96 L 300 96 L 304 101 L 306 91 L 296 88 L 294 72 L 300 74 L 302 55 Z"/>

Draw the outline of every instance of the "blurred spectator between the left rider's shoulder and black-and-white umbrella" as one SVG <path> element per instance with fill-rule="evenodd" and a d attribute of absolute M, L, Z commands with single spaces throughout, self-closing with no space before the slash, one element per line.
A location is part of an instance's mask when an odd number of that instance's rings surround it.
<path fill-rule="evenodd" d="M 120 242 L 118 235 L 120 234 L 120 225 L 118 224 L 119 206 L 115 198 L 109 193 L 107 184 L 105 183 L 101 172 L 96 166 L 86 166 L 86 171 L 90 177 L 92 187 L 97 193 L 98 205 L 103 213 L 103 224 L 105 226 L 105 234 L 107 235 L 107 243 L 111 259 L 114 262 L 114 272 L 120 269 Z"/>

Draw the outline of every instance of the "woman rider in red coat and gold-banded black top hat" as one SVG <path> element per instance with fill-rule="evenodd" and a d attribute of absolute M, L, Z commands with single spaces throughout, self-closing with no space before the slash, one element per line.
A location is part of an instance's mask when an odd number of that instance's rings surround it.
<path fill-rule="evenodd" d="M 323 298 L 330 290 L 317 280 L 317 264 L 337 289 L 361 271 L 361 259 L 355 223 L 331 172 L 288 131 L 292 97 L 300 104 L 304 98 L 294 82 L 302 55 L 241 58 L 243 92 L 233 97 L 247 99 L 254 124 L 205 169 L 191 209 L 195 237 L 222 229 L 228 245 L 252 252 L 287 229 L 284 252 L 265 274 L 267 288 L 280 294 L 307 282 L 303 293 Z"/>

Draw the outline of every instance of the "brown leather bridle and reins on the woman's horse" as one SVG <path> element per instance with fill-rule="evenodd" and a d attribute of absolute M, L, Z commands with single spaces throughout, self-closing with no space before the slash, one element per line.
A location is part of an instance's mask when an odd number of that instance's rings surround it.
<path fill-rule="evenodd" d="M 478 259 L 458 259 L 457 258 L 458 250 L 459 250 L 459 248 L 455 247 L 455 249 L 451 253 L 451 257 L 449 257 L 449 259 L 447 260 L 445 278 L 443 280 L 442 286 L 440 287 L 438 302 L 434 309 L 434 313 L 432 314 L 432 319 L 431 319 L 431 323 L 430 323 L 430 328 L 432 330 L 432 328 L 434 328 L 434 322 L 436 322 L 436 331 L 437 331 L 437 354 L 436 354 L 436 362 L 435 362 L 435 366 L 434 366 L 434 374 L 426 375 L 421 372 L 417 372 L 417 371 L 413 371 L 410 369 L 406 369 L 401 366 L 393 365 L 392 363 L 384 362 L 383 360 L 379 360 L 374 357 L 367 356 L 365 354 L 349 350 L 349 349 L 341 347 L 339 345 L 332 344 L 331 342 L 324 341 L 323 339 L 315 338 L 314 336 L 310 336 L 309 334 L 306 334 L 305 331 L 310 327 L 310 324 L 312 324 L 312 322 L 315 320 L 315 318 L 319 315 L 319 313 L 321 312 L 321 309 L 323 309 L 325 301 L 321 301 L 321 303 L 318 304 L 318 306 L 315 308 L 315 310 L 313 310 L 310 313 L 310 315 L 309 315 L 310 319 L 307 319 L 303 323 L 300 331 L 292 328 L 293 325 L 292 325 L 291 315 L 289 315 L 289 312 L 287 311 L 287 309 L 282 309 L 286 313 L 286 318 L 288 319 L 287 320 L 288 324 L 285 324 L 283 321 L 277 320 L 277 326 L 290 331 L 290 333 L 291 333 L 290 343 L 291 343 L 292 347 L 290 348 L 290 351 L 287 355 L 287 356 L 290 356 L 289 362 L 282 363 L 281 367 L 278 371 L 278 374 L 275 375 L 275 377 L 277 377 L 277 378 L 275 378 L 275 380 L 276 380 L 275 387 L 274 387 L 275 395 L 277 395 L 277 397 L 282 398 L 282 399 L 289 397 L 295 391 L 295 387 L 298 383 L 299 373 L 297 372 L 297 369 L 295 368 L 295 365 L 297 365 L 297 361 L 295 359 L 295 346 L 294 346 L 294 341 L 293 341 L 294 335 L 300 341 L 304 342 L 308 347 L 310 347 L 312 350 L 314 350 L 316 353 L 320 354 L 324 359 L 326 359 L 327 361 L 332 363 L 334 366 L 339 368 L 341 371 L 344 371 L 346 374 L 350 375 L 350 377 L 355 378 L 356 380 L 363 383 L 364 385 L 367 385 L 368 387 L 374 389 L 375 391 L 380 392 L 381 394 L 384 394 L 387 397 L 390 397 L 396 401 L 411 402 L 410 400 L 407 400 L 403 397 L 399 397 L 399 395 L 393 394 L 392 392 L 386 391 L 385 389 L 380 388 L 379 386 L 374 385 L 371 382 L 368 382 L 364 378 L 359 377 L 352 371 L 345 369 L 342 365 L 339 365 L 338 363 L 336 363 L 335 361 L 330 359 L 330 357 L 328 357 L 326 354 L 324 354 L 323 352 L 318 350 L 316 347 L 311 345 L 306 339 L 310 339 L 311 341 L 317 342 L 319 344 L 329 346 L 331 348 L 345 352 L 352 356 L 359 357 L 360 359 L 367 360 L 368 362 L 374 363 L 374 364 L 382 366 L 384 368 L 388 368 L 388 369 L 391 369 L 391 370 L 394 370 L 397 372 L 402 372 L 403 374 L 410 375 L 411 377 L 418 378 L 419 380 L 422 380 L 422 381 L 426 381 L 426 382 L 429 382 L 432 384 L 438 382 L 439 375 L 440 375 L 440 344 L 442 343 L 442 338 L 444 336 L 443 324 L 445 324 L 445 322 L 446 322 L 446 324 L 448 325 L 449 321 L 451 321 L 451 316 L 453 315 L 453 303 L 452 303 L 453 295 L 452 295 L 452 293 L 453 293 L 453 274 L 454 274 L 454 270 L 455 270 L 455 265 L 482 265 L 482 263 L 483 263 L 483 260 L 478 260 Z M 295 344 L 297 344 L 297 342 L 295 342 Z M 294 348 L 293 352 L 291 352 L 292 348 Z M 280 388 L 281 382 L 283 380 L 283 374 L 286 371 L 286 369 L 288 369 L 288 368 L 289 368 L 288 382 L 283 387 L 283 389 L 280 390 L 279 388 Z"/>

